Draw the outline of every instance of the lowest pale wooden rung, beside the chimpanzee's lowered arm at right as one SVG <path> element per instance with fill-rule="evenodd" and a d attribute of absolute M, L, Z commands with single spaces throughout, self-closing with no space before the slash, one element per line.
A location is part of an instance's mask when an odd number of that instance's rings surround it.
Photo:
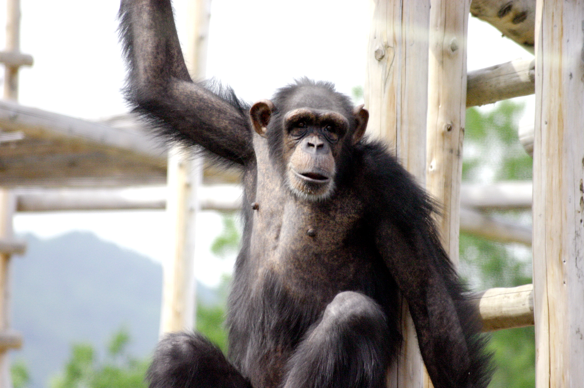
<path fill-rule="evenodd" d="M 534 325 L 533 284 L 491 288 L 475 293 L 471 300 L 481 314 L 482 331 Z"/>

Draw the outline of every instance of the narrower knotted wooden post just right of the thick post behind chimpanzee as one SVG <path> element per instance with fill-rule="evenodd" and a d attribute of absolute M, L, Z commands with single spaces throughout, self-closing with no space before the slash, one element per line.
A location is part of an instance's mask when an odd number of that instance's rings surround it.
<path fill-rule="evenodd" d="M 437 224 L 444 249 L 455 265 L 458 264 L 470 3 L 470 0 L 432 0 L 430 8 L 426 189 L 443 206 Z M 424 380 L 425 387 L 432 387 L 427 373 Z"/>

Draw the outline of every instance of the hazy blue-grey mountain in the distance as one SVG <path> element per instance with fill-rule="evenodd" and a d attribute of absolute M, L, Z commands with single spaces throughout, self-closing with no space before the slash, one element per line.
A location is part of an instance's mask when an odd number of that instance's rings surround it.
<path fill-rule="evenodd" d="M 12 259 L 12 327 L 24 346 L 31 388 L 47 387 L 60 372 L 74 342 L 104 349 L 126 327 L 130 353 L 147 356 L 158 338 L 162 268 L 136 252 L 74 232 L 50 240 L 27 235 L 27 253 Z M 199 286 L 206 304 L 217 302 Z"/>

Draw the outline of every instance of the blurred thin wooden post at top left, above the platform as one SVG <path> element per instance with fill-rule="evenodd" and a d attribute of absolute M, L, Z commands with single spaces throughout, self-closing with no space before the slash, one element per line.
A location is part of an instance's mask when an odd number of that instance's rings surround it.
<path fill-rule="evenodd" d="M 20 0 L 6 0 L 6 48 L 8 52 L 20 51 Z M 18 66 L 5 65 L 4 98 L 18 100 Z"/>

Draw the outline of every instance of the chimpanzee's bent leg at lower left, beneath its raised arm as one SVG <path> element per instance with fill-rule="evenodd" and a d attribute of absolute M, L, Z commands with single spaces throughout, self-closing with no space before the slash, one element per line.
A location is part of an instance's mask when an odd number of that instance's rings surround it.
<path fill-rule="evenodd" d="M 198 333 L 165 335 L 146 378 L 150 388 L 251 388 L 221 350 Z"/>

